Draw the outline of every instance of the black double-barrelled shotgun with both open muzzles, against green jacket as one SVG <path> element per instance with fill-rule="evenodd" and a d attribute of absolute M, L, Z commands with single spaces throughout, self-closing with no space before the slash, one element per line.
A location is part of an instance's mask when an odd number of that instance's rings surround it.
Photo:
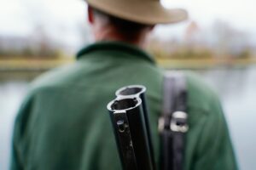
<path fill-rule="evenodd" d="M 120 88 L 108 104 L 123 170 L 155 170 L 145 92 L 139 85 Z"/>

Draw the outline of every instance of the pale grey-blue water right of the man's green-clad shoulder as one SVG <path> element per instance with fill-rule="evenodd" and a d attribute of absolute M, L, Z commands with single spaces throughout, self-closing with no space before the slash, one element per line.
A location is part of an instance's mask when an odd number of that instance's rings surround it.
<path fill-rule="evenodd" d="M 255 169 L 256 68 L 220 69 L 202 75 L 223 101 L 241 170 Z"/>

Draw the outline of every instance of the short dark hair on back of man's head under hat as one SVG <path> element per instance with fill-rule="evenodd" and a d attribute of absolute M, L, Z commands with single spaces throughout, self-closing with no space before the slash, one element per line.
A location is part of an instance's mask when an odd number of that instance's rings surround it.
<path fill-rule="evenodd" d="M 93 13 L 98 17 L 103 17 L 108 19 L 108 24 L 114 26 L 116 30 L 124 37 L 137 37 L 141 31 L 144 29 L 151 27 L 149 25 L 133 22 L 130 20 L 123 20 L 118 17 L 115 17 L 111 14 L 106 14 L 99 9 L 92 8 Z"/>

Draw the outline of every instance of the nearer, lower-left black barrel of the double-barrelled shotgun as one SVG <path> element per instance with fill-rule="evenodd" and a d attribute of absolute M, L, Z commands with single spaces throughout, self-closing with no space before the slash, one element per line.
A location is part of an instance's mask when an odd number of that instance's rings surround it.
<path fill-rule="evenodd" d="M 108 104 L 119 157 L 124 170 L 153 170 L 142 99 L 118 97 Z"/>

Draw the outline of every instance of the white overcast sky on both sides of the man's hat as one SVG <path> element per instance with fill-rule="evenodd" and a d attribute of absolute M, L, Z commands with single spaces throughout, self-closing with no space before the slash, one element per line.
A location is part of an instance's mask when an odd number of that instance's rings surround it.
<path fill-rule="evenodd" d="M 162 3 L 166 8 L 186 8 L 190 20 L 199 26 L 210 26 L 218 19 L 242 31 L 256 32 L 255 0 L 163 0 Z M 65 34 L 67 41 L 73 42 L 78 23 L 86 23 L 83 0 L 0 0 L 0 4 L 0 35 L 29 35 L 35 25 L 41 25 L 52 36 Z M 160 26 L 156 32 L 177 30 L 187 24 Z"/>

